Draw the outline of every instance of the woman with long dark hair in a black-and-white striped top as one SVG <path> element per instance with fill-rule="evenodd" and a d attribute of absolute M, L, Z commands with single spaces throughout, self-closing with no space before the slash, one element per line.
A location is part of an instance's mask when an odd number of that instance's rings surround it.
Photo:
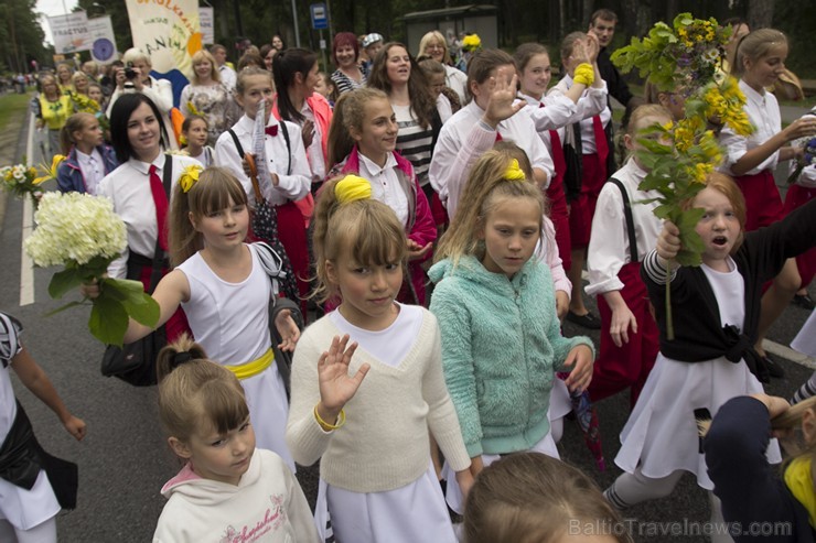
<path fill-rule="evenodd" d="M 387 43 L 374 61 L 368 86 L 388 95 L 397 116 L 399 132 L 397 151 L 408 159 L 428 200 L 433 188 L 428 181 L 428 167 L 442 118 L 440 99 L 433 97 L 428 78 L 401 43 Z"/>

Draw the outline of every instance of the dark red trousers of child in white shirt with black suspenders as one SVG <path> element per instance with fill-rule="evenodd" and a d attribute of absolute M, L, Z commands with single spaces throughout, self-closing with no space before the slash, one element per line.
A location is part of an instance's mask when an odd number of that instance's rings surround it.
<path fill-rule="evenodd" d="M 637 332 L 633 333 L 630 328 L 629 343 L 615 346 L 609 332 L 612 311 L 603 295 L 598 295 L 601 348 L 592 371 L 589 394 L 595 401 L 631 387 L 630 405 L 634 408 L 661 350 L 659 330 L 649 311 L 648 292 L 641 279 L 641 263 L 624 265 L 618 278 L 624 284 L 621 295 L 637 321 Z"/>

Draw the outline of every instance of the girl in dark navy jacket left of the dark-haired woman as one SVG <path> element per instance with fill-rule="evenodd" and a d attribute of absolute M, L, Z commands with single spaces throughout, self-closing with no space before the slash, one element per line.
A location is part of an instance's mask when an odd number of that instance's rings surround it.
<path fill-rule="evenodd" d="M 99 120 L 92 113 L 74 113 L 60 139 L 66 155 L 56 171 L 60 191 L 96 195 L 103 177 L 119 165 L 114 149 L 103 140 Z"/>

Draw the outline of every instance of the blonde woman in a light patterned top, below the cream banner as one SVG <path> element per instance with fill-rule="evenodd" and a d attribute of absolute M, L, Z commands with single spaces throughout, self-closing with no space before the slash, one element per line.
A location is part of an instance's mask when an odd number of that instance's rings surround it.
<path fill-rule="evenodd" d="M 215 145 L 218 137 L 237 118 L 227 88 L 221 83 L 221 72 L 208 51 L 193 54 L 193 77 L 181 91 L 179 109 L 184 117 L 198 115 L 207 119 L 208 145 Z"/>

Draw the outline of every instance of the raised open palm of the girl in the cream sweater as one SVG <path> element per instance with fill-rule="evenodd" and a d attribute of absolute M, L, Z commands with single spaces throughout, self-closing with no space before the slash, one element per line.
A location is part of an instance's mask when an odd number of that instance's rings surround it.
<path fill-rule="evenodd" d="M 318 361 L 320 401 L 322 406 L 330 412 L 325 413 L 326 415 L 340 413 L 343 405 L 354 398 L 371 368 L 369 365 L 364 363 L 354 376 L 350 376 L 348 363 L 352 361 L 354 351 L 357 350 L 357 344 L 352 343 L 348 348 L 346 345 L 348 345 L 347 334 L 342 338 L 334 336 L 329 351 L 323 352 Z"/>

